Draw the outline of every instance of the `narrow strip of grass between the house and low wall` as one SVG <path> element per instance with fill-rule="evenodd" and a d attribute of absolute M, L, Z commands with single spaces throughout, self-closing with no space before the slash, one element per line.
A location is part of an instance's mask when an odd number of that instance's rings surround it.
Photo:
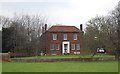
<path fill-rule="evenodd" d="M 51 59 L 51 58 L 91 58 L 92 54 L 80 54 L 80 55 L 48 55 L 48 56 L 34 56 L 34 57 L 19 57 L 19 58 L 39 58 L 39 59 Z M 97 54 L 93 58 L 98 57 L 115 57 L 114 55 L 108 54 Z"/>

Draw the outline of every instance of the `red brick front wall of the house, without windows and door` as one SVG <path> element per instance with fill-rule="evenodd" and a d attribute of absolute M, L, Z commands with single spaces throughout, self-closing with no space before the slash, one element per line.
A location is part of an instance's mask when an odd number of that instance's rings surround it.
<path fill-rule="evenodd" d="M 44 36 L 45 38 L 45 41 L 44 41 L 44 44 L 45 44 L 45 48 L 46 49 L 46 53 L 47 55 L 51 55 L 51 54 L 57 54 L 57 55 L 61 55 L 62 54 L 62 42 L 63 41 L 69 41 L 70 42 L 70 49 L 71 49 L 71 44 L 74 43 L 74 44 L 77 44 L 77 43 L 80 43 L 80 50 L 70 50 L 71 54 L 74 54 L 74 52 L 80 52 L 82 53 L 84 50 L 83 50 L 83 32 L 76 32 L 78 37 L 77 37 L 77 40 L 73 40 L 73 35 L 74 33 L 67 33 L 67 37 L 68 39 L 67 40 L 63 40 L 63 34 L 62 32 L 57 32 L 57 40 L 53 40 L 52 36 L 53 36 L 53 33 L 55 32 L 47 32 L 46 35 Z M 59 50 L 50 50 L 50 44 L 59 44 L 60 47 L 59 47 Z"/>

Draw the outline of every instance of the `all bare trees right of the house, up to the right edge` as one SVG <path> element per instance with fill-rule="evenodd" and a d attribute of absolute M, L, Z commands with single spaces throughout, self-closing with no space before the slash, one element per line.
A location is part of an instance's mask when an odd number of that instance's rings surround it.
<path fill-rule="evenodd" d="M 118 49 L 120 25 L 120 3 L 106 16 L 96 16 L 88 21 L 84 34 L 85 49 L 91 53 L 97 48 L 105 48 L 107 53 L 115 54 Z"/>

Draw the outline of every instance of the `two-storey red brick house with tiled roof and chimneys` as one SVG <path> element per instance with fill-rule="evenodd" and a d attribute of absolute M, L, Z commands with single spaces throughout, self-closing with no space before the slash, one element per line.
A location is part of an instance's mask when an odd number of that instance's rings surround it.
<path fill-rule="evenodd" d="M 81 54 L 83 52 L 83 31 L 75 26 L 52 26 L 40 37 L 40 49 L 46 55 Z"/>

